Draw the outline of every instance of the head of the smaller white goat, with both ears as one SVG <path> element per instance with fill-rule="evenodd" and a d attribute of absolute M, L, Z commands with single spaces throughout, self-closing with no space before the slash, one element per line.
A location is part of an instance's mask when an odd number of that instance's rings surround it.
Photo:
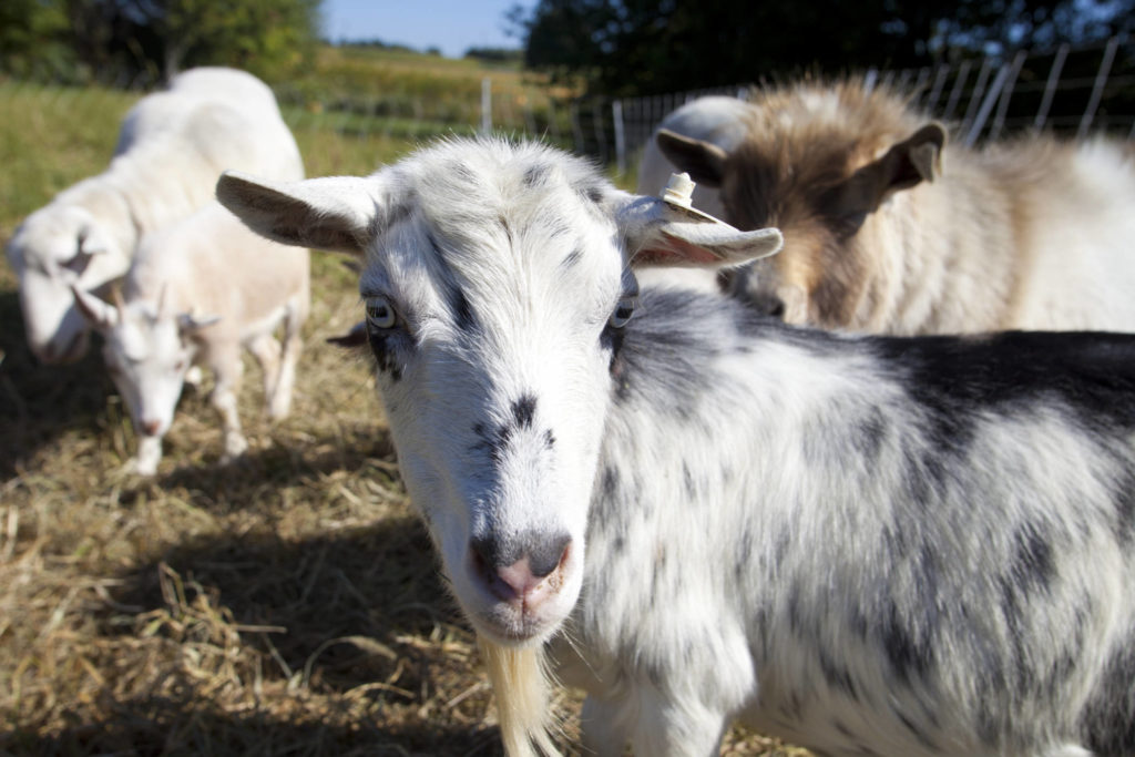
<path fill-rule="evenodd" d="M 107 371 L 129 410 L 141 436 L 162 437 L 174 422 L 185 373 L 196 347 L 190 338 L 195 328 L 212 322 L 188 316 L 163 313 L 149 302 L 109 305 L 77 291 L 76 303 L 103 336 Z"/>

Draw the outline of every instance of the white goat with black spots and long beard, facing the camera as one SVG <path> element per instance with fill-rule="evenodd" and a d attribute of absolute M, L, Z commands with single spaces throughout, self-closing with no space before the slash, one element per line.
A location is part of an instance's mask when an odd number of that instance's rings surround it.
<path fill-rule="evenodd" d="M 1135 337 L 839 337 L 638 293 L 632 266 L 779 235 L 536 145 L 218 193 L 365 255 L 402 473 L 511 752 L 549 748 L 566 639 L 600 755 L 714 754 L 734 718 L 827 755 L 1135 754 Z"/>

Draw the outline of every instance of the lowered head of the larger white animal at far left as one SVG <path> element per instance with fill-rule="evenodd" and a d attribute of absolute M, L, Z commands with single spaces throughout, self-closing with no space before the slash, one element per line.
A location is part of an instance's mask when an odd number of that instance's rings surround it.
<path fill-rule="evenodd" d="M 87 325 L 72 286 L 91 291 L 126 272 L 129 260 L 81 208 L 32 213 L 8 243 L 19 277 L 27 342 L 44 363 L 66 363 L 86 353 Z"/>

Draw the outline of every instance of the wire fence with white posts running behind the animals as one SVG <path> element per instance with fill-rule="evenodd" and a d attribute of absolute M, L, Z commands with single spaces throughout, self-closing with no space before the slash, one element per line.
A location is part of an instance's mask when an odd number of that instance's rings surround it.
<path fill-rule="evenodd" d="M 909 92 L 916 107 L 951 123 L 968 144 L 1041 128 L 1079 137 L 1107 132 L 1135 138 L 1135 45 L 1126 39 L 918 69 L 872 68 L 863 77 L 868 87 Z M 0 77 L 5 87 L 25 84 L 33 86 Z M 138 81 L 108 84 L 141 89 Z M 566 99 L 544 84 L 502 83 L 488 76 L 456 84 L 434 93 L 375 90 L 367 94 L 312 82 L 283 83 L 275 91 L 285 120 L 297 134 L 333 129 L 339 136 L 367 141 L 496 132 L 573 149 L 623 174 L 674 109 L 707 94 L 747 99 L 757 86 L 742 83 L 611 100 Z M 45 87 L 45 96 L 60 99 L 79 98 L 82 92 L 81 87 Z"/>

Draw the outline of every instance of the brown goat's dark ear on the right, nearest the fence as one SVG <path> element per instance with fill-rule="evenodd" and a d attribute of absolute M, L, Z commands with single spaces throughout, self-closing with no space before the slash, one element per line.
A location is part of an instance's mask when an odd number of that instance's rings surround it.
<path fill-rule="evenodd" d="M 878 160 L 851 175 L 840 187 L 834 210 L 841 216 L 874 212 L 893 193 L 942 174 L 945 127 L 931 121 L 894 144 Z"/>

